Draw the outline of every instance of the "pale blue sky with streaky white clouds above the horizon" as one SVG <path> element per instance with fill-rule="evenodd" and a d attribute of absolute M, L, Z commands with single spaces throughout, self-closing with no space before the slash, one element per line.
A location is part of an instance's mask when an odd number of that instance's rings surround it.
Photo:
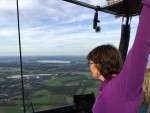
<path fill-rule="evenodd" d="M 106 0 L 81 0 L 105 6 Z M 95 11 L 62 0 L 19 0 L 23 56 L 87 55 L 102 44 L 119 46 L 122 18 L 99 12 L 101 32 L 95 33 Z M 0 0 L 0 56 L 18 56 L 16 0 Z M 131 48 L 138 25 L 131 21 Z"/>

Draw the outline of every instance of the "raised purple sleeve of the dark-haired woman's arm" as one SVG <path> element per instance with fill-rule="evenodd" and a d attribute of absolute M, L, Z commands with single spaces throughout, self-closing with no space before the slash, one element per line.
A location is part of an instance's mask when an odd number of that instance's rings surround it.
<path fill-rule="evenodd" d="M 135 96 L 133 94 L 138 94 L 141 90 L 150 54 L 150 0 L 143 0 L 142 3 L 143 9 L 134 44 L 116 78 L 118 88 L 122 88 L 128 96 Z"/>

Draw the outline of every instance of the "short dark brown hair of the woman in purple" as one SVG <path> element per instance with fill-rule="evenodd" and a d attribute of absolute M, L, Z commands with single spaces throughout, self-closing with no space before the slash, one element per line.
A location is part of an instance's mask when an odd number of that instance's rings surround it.
<path fill-rule="evenodd" d="M 87 55 L 87 60 L 98 64 L 97 68 L 105 79 L 111 78 L 112 74 L 118 74 L 123 65 L 120 52 L 110 44 L 94 48 Z"/>

